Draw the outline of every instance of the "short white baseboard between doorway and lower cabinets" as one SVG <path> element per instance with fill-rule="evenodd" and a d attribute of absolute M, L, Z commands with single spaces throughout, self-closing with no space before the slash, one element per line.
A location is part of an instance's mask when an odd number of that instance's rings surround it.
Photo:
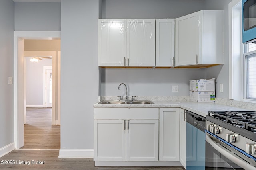
<path fill-rule="evenodd" d="M 93 149 L 60 149 L 58 158 L 93 158 Z"/>

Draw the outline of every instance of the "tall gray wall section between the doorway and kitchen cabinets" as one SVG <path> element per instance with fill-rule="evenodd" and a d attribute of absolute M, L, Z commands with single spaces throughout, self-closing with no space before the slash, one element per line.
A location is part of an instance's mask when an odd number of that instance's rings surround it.
<path fill-rule="evenodd" d="M 61 149 L 93 149 L 98 0 L 61 1 Z"/>

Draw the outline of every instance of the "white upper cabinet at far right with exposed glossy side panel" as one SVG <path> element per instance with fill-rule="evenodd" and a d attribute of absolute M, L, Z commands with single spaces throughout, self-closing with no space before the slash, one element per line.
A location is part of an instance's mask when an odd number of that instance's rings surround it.
<path fill-rule="evenodd" d="M 175 19 L 175 66 L 224 64 L 222 10 L 202 10 Z"/>

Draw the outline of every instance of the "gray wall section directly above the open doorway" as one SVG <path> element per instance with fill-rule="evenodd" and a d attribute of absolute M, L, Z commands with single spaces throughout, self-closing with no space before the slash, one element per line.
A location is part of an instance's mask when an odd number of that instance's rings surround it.
<path fill-rule="evenodd" d="M 16 2 L 15 31 L 60 31 L 60 2 Z"/>

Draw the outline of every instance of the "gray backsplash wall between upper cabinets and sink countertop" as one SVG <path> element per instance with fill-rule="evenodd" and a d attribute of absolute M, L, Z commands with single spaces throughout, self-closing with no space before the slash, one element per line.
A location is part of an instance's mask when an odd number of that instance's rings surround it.
<path fill-rule="evenodd" d="M 203 69 L 102 69 L 102 96 L 125 95 L 118 85 L 128 86 L 128 95 L 189 96 L 189 80 L 204 78 Z M 179 92 L 171 92 L 178 85 Z"/>

